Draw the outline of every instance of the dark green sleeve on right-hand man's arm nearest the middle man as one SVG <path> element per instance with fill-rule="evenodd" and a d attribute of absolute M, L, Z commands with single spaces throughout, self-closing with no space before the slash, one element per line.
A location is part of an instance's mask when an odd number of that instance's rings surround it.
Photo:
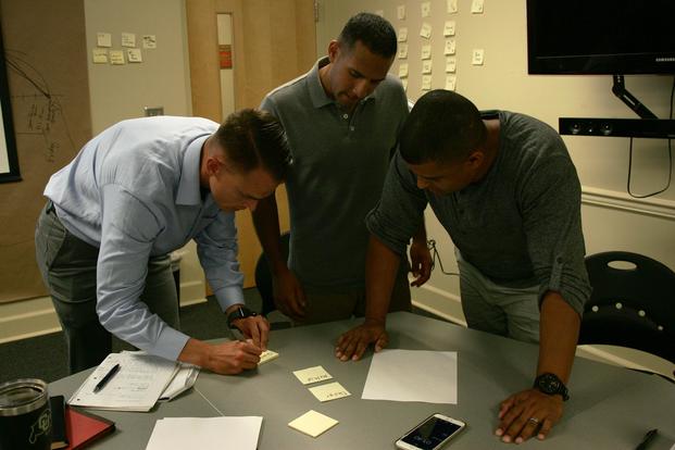
<path fill-rule="evenodd" d="M 399 152 L 389 164 L 382 197 L 366 215 L 365 225 L 393 252 L 405 255 L 405 247 L 420 229 L 427 198 Z"/>

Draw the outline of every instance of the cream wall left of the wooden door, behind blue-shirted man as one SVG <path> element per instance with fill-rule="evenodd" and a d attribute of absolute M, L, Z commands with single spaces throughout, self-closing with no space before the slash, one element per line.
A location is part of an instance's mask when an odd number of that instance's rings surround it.
<path fill-rule="evenodd" d="M 146 105 L 163 105 L 168 115 L 191 115 L 184 0 L 85 0 L 85 16 L 95 135 L 118 121 L 142 116 Z M 112 49 L 123 49 L 122 33 L 135 33 L 143 62 L 93 64 L 91 51 L 99 32 L 112 34 Z M 157 49 L 142 49 L 142 35 L 155 35 Z M 195 243 L 178 253 L 180 304 L 205 301 Z M 49 298 L 0 304 L 0 343 L 59 329 Z"/>

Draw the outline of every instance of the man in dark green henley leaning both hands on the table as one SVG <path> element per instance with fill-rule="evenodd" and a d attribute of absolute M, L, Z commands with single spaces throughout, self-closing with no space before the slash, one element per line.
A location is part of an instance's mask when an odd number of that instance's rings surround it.
<path fill-rule="evenodd" d="M 365 323 L 337 355 L 359 359 L 387 343 L 393 271 L 427 204 L 457 248 L 462 308 L 472 328 L 539 342 L 532 388 L 501 403 L 496 434 L 543 439 L 560 420 L 584 303 L 580 185 L 564 142 L 548 125 L 507 111 L 480 114 L 464 97 L 435 90 L 408 117 L 372 233 Z"/>

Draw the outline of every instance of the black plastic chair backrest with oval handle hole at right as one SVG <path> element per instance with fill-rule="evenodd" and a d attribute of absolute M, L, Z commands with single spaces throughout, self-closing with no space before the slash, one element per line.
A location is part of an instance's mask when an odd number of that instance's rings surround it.
<path fill-rule="evenodd" d="M 607 343 L 675 363 L 675 273 L 651 258 L 610 251 L 586 258 L 592 295 L 579 343 Z"/>

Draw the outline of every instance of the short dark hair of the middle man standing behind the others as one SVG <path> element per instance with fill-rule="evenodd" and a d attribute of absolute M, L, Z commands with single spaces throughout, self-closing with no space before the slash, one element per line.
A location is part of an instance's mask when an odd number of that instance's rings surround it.
<path fill-rule="evenodd" d="M 340 32 L 338 41 L 349 50 L 354 48 L 357 41 L 361 41 L 380 57 L 391 58 L 396 54 L 396 32 L 389 21 L 377 14 L 362 12 L 351 17 Z"/>

